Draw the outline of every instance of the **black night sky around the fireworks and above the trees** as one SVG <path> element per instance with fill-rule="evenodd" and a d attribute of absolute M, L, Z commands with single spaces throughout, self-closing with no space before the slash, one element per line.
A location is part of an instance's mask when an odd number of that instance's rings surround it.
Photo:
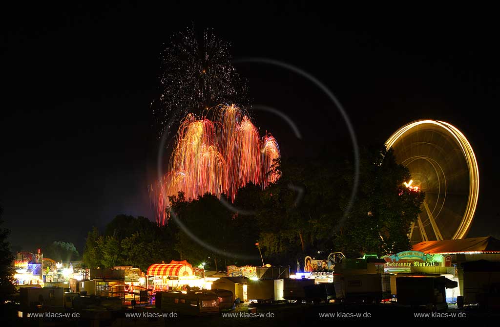
<path fill-rule="evenodd" d="M 81 252 L 92 225 L 102 228 L 120 213 L 154 219 L 148 184 L 157 177 L 159 142 L 150 105 L 159 96 L 159 53 L 192 23 L 230 42 L 234 59 L 280 60 L 323 82 L 361 145 L 382 143 L 416 119 L 456 126 L 479 164 L 468 236 L 500 237 L 495 20 L 469 9 L 457 16 L 367 12 L 170 2 L 4 8 L 0 201 L 12 249 L 61 240 Z M 268 65 L 235 67 L 254 104 L 282 111 L 300 130 L 301 140 L 277 116 L 252 112 L 283 156 L 351 147 L 338 110 L 317 87 Z"/>

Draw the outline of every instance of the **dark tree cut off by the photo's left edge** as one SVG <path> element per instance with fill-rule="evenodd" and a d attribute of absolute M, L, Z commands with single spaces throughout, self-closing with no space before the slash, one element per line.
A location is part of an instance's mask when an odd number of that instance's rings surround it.
<path fill-rule="evenodd" d="M 0 225 L 3 223 L 1 216 L 3 208 L 0 206 Z M 13 285 L 13 261 L 14 256 L 10 252 L 10 245 L 8 243 L 8 235 L 10 231 L 7 228 L 0 229 L 0 304 L 5 300 L 11 298 L 15 293 Z"/>

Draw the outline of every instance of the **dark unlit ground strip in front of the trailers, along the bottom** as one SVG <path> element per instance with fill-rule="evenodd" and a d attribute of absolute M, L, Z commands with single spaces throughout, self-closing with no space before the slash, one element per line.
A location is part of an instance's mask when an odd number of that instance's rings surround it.
<path fill-rule="evenodd" d="M 248 310 L 248 308 L 254 308 Z M 114 314 L 113 319 L 100 321 L 100 326 L 293 326 L 319 323 L 331 325 L 337 321 L 363 320 L 380 323 L 381 321 L 403 322 L 412 319 L 438 321 L 497 321 L 500 310 L 480 310 L 468 307 L 462 310 L 450 305 L 448 309 L 431 311 L 425 307 L 409 308 L 395 303 L 379 305 L 354 305 L 342 303 L 281 303 L 281 304 L 245 304 L 235 310 L 229 310 L 210 316 L 177 316 L 163 319 L 133 319 L 124 313 Z M 161 321 L 163 320 L 163 321 Z M 52 326 L 88 326 L 96 325 L 88 319 L 16 319 L 15 325 L 52 325 Z M 451 322 L 451 321 L 450 321 Z M 349 327 L 349 326 L 348 326 Z"/>

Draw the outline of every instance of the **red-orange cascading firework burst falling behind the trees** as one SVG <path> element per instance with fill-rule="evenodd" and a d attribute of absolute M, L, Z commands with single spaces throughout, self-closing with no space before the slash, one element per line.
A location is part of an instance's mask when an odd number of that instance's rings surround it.
<path fill-rule="evenodd" d="M 238 107 L 217 106 L 206 116 L 188 114 L 181 120 L 168 172 L 152 189 L 156 220 L 166 223 L 168 196 L 184 192 L 188 199 L 205 193 L 227 194 L 231 201 L 240 187 L 252 182 L 266 187 L 279 176 L 269 175 L 279 147 L 270 133 L 259 137 L 250 118 Z"/>

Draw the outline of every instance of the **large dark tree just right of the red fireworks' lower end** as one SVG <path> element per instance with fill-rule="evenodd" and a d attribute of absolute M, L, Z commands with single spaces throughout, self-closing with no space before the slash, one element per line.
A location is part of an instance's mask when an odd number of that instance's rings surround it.
<path fill-rule="evenodd" d="M 257 211 L 259 242 L 266 255 L 294 262 L 297 256 L 322 250 L 341 216 L 345 182 L 337 160 L 328 154 L 315 159 L 278 159 L 273 174 L 281 177 L 261 193 Z"/>

